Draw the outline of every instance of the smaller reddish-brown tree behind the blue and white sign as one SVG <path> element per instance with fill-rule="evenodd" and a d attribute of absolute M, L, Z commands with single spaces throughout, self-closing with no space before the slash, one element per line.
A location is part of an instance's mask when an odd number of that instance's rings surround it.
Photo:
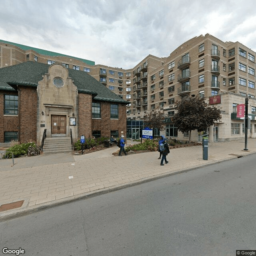
<path fill-rule="evenodd" d="M 150 129 L 158 128 L 160 131 L 165 129 L 165 120 L 166 115 L 159 108 L 151 110 L 146 113 L 143 118 L 144 127 L 149 127 Z"/>

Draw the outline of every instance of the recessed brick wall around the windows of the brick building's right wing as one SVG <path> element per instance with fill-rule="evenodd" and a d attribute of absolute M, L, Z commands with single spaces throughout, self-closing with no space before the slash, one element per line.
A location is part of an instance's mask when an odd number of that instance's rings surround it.
<path fill-rule="evenodd" d="M 101 119 L 92 119 L 92 131 L 101 131 L 101 136 L 110 136 L 110 131 L 118 130 L 118 136 L 126 136 L 126 105 L 118 104 L 118 120 L 110 119 L 110 105 L 114 102 L 100 103 Z"/>

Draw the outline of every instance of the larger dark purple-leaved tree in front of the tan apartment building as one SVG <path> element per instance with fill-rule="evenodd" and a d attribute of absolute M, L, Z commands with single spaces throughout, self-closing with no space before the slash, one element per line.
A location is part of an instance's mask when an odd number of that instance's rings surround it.
<path fill-rule="evenodd" d="M 192 130 L 201 132 L 221 119 L 219 108 L 212 107 L 204 101 L 204 98 L 196 96 L 195 98 L 183 98 L 176 102 L 172 121 L 181 132 L 189 132 L 189 141 Z"/>

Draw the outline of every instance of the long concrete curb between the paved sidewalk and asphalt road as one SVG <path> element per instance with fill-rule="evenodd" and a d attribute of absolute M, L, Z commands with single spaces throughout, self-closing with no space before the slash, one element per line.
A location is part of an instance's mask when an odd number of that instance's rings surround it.
<path fill-rule="evenodd" d="M 28 215 L 28 214 L 31 214 L 31 213 L 34 213 L 34 212 L 46 210 L 46 209 L 49 209 L 49 208 L 52 208 L 52 207 L 55 207 L 55 206 L 60 206 L 62 204 L 67 204 L 67 203 L 78 201 L 78 200 L 92 198 L 94 196 L 100 196 L 100 195 L 107 194 L 107 193 L 110 193 L 110 192 L 114 192 L 114 191 L 117 191 L 117 190 L 121 190 L 121 189 L 124 189 L 124 188 L 130 188 L 130 187 L 133 187 L 133 186 L 137 186 L 137 185 L 144 184 L 144 183 L 147 183 L 147 182 L 151 182 L 151 181 L 154 181 L 154 180 L 159 180 L 159 179 L 162 179 L 162 178 L 170 177 L 170 176 L 173 176 L 173 175 L 176 175 L 176 174 L 189 172 L 189 171 L 196 170 L 196 169 L 199 169 L 199 168 L 203 168 L 203 167 L 206 167 L 206 166 L 210 166 L 210 165 L 213 165 L 213 164 L 218 164 L 218 163 L 221 163 L 221 162 L 230 161 L 230 160 L 233 160 L 233 159 L 236 159 L 236 158 L 241 158 L 243 156 L 248 156 L 248 155 L 251 155 L 251 154 L 256 154 L 256 152 L 241 154 L 240 156 L 230 156 L 229 158 L 226 158 L 226 159 L 216 160 L 216 161 L 211 162 L 211 163 L 201 164 L 199 166 L 194 166 L 194 167 L 191 167 L 191 168 L 188 168 L 188 169 L 181 169 L 181 170 L 176 170 L 176 171 L 172 171 L 172 172 L 166 172 L 164 174 L 158 174 L 158 175 L 155 175 L 155 176 L 152 176 L 152 177 L 142 178 L 141 180 L 135 180 L 135 181 L 128 182 L 128 183 L 125 183 L 125 184 L 122 184 L 122 185 L 116 185 L 116 186 L 111 186 L 111 187 L 108 187 L 108 188 L 102 188 L 102 189 L 99 189 L 99 190 L 94 190 L 94 191 L 87 192 L 87 193 L 80 194 L 80 195 L 76 195 L 76 196 L 69 196 L 69 197 L 66 197 L 66 198 L 59 199 L 57 201 L 47 202 L 47 203 L 44 203 L 44 204 L 38 205 L 38 206 L 29 206 L 26 209 L 12 210 L 12 212 L 3 213 L 2 216 L 0 216 L 0 222 L 10 220 L 12 218 L 18 218 L 20 216 Z"/>

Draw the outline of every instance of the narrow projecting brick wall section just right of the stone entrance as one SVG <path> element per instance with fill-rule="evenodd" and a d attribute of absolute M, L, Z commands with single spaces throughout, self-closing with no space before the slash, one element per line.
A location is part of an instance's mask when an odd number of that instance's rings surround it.
<path fill-rule="evenodd" d="M 92 94 L 78 94 L 78 137 L 92 136 Z"/>

